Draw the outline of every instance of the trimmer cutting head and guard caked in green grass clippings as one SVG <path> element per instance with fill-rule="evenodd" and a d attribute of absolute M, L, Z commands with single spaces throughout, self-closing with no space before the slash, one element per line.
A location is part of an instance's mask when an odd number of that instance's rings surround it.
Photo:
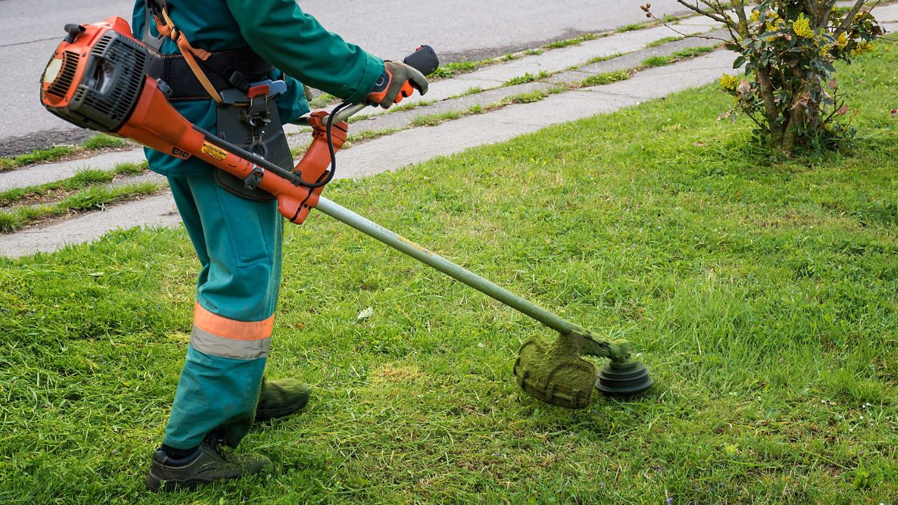
<path fill-rule="evenodd" d="M 610 357 L 612 363 L 599 374 L 581 355 Z M 648 369 L 629 359 L 626 342 L 597 341 L 588 332 L 559 335 L 551 343 L 539 337 L 525 341 L 515 361 L 515 377 L 524 393 L 568 409 L 585 408 L 594 388 L 624 396 L 641 393 L 653 383 Z"/>

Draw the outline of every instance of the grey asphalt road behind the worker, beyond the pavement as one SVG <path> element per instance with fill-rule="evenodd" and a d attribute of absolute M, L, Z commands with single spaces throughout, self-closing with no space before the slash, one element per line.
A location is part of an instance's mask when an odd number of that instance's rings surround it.
<path fill-rule="evenodd" d="M 383 58 L 401 58 L 418 44 L 444 60 L 497 56 L 589 31 L 645 20 L 639 0 L 300 0 L 331 31 Z M 72 127 L 40 106 L 40 75 L 66 22 L 128 18 L 128 0 L 0 0 L 0 139 L 14 146 L 65 140 Z M 655 0 L 658 14 L 681 12 Z M 20 138 L 14 138 L 20 137 Z"/>

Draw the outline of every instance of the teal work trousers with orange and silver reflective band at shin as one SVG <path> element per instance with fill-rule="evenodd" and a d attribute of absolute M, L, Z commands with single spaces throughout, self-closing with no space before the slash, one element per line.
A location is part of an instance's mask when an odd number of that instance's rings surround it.
<path fill-rule="evenodd" d="M 281 276 L 277 202 L 237 197 L 215 169 L 170 177 L 202 269 L 187 359 L 163 443 L 198 446 L 207 434 L 237 447 L 250 428 L 268 356 Z"/>

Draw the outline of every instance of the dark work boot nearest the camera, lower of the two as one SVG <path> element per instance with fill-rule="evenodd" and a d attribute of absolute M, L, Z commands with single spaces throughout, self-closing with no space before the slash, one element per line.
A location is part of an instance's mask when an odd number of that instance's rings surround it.
<path fill-rule="evenodd" d="M 270 466 L 271 461 L 265 456 L 233 454 L 225 451 L 218 440 L 207 437 L 196 453 L 184 459 L 175 460 L 161 449 L 156 450 L 153 465 L 146 474 L 146 487 L 150 491 L 193 489 L 198 485 L 259 474 Z"/>

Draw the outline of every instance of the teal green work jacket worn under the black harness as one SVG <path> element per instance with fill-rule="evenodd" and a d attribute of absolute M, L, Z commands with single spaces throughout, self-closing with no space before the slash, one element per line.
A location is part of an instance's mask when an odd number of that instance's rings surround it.
<path fill-rule="evenodd" d="M 287 83 L 277 100 L 284 122 L 309 111 L 302 81 L 351 102 L 360 102 L 383 75 L 383 60 L 349 44 L 303 13 L 295 0 L 169 0 L 172 22 L 198 49 L 222 51 L 250 47 L 278 69 L 272 78 Z M 238 21 L 239 20 L 239 21 Z M 132 28 L 144 33 L 144 0 L 136 0 Z M 155 27 L 151 32 L 155 35 Z M 163 54 L 177 54 L 165 40 Z M 207 131 L 216 129 L 216 102 L 175 102 L 175 109 Z M 181 160 L 146 149 L 150 169 L 171 177 L 197 175 L 210 169 L 196 158 Z"/>

